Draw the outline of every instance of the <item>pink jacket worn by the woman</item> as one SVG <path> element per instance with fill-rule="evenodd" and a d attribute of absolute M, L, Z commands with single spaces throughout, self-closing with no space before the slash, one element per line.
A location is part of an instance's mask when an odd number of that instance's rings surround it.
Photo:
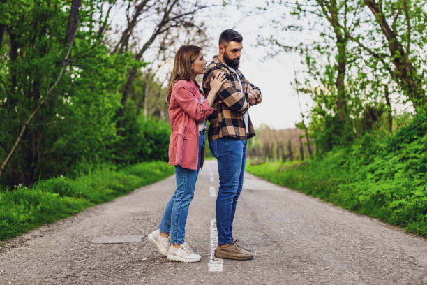
<path fill-rule="evenodd" d="M 200 86 L 193 80 L 179 80 L 172 87 L 169 119 L 172 133 L 169 140 L 169 164 L 197 170 L 199 161 L 199 127 L 213 113 L 206 100 L 200 104 Z M 203 92 L 202 92 L 203 94 Z M 204 96 L 204 94 L 203 94 Z M 200 168 L 203 166 L 204 148 Z"/>

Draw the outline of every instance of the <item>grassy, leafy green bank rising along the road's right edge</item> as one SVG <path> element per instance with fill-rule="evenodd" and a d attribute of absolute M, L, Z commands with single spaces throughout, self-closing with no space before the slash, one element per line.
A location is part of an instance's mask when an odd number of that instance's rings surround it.
<path fill-rule="evenodd" d="M 308 163 L 267 163 L 247 170 L 427 237 L 426 114 L 394 136 L 366 134 Z"/>

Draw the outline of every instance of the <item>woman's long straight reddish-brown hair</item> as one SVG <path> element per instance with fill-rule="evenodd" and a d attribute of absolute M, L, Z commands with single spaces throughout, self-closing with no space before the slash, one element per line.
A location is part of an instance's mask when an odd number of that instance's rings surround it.
<path fill-rule="evenodd" d="M 172 94 L 172 87 L 178 80 L 190 80 L 191 64 L 202 51 L 201 47 L 197 45 L 181 45 L 174 59 L 174 69 L 172 71 L 172 79 L 167 89 L 166 102 L 170 103 L 170 96 Z"/>

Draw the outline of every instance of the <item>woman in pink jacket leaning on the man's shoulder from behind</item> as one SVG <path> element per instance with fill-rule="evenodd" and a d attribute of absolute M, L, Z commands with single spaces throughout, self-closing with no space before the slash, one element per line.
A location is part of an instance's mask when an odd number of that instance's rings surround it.
<path fill-rule="evenodd" d="M 206 64 L 200 47 L 179 47 L 167 91 L 172 128 L 169 163 L 175 166 L 177 189 L 167 203 L 158 229 L 148 238 L 171 261 L 200 261 L 200 255 L 194 254 L 184 242 L 186 220 L 199 168 L 203 166 L 206 118 L 212 114 L 216 93 L 225 82 L 225 74 L 218 73 L 211 80 L 211 91 L 205 98 L 195 77 L 206 72 Z"/>

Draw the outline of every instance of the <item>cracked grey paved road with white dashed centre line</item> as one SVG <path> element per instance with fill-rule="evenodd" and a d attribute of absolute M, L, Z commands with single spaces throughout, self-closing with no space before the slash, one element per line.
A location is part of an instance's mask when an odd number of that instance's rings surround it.
<path fill-rule="evenodd" d="M 255 257 L 211 258 L 216 161 L 200 172 L 186 227 L 202 261 L 169 262 L 146 237 L 173 191 L 172 176 L 6 242 L 0 284 L 427 284 L 426 239 L 249 174 L 234 235 Z M 144 238 L 92 243 L 122 235 Z"/>

